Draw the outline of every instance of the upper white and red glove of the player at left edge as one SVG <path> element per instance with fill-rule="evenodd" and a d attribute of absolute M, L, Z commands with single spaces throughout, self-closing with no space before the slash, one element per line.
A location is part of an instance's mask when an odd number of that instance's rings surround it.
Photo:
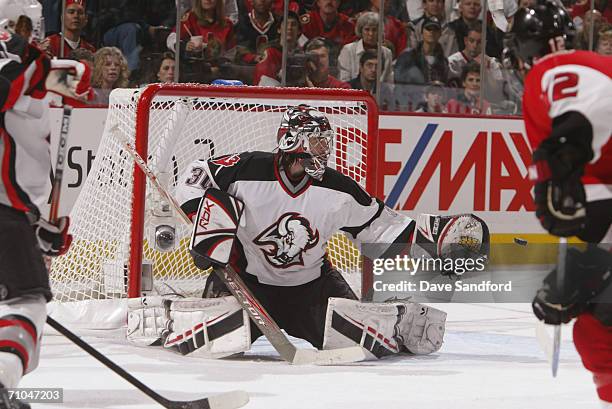
<path fill-rule="evenodd" d="M 85 63 L 73 60 L 51 60 L 51 70 L 45 88 L 65 97 L 89 100 L 93 97 L 90 86 L 91 70 Z"/>

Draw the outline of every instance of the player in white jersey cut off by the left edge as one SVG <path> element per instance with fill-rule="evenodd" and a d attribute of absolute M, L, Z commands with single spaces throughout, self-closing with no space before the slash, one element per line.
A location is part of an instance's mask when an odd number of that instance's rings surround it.
<path fill-rule="evenodd" d="M 0 23 L 10 25 L 30 6 L 32 1 L 4 1 Z M 43 254 L 58 256 L 70 245 L 68 218 L 50 223 L 39 211 L 51 188 L 44 97 L 52 91 L 85 98 L 89 77 L 86 64 L 51 61 L 0 28 L 0 409 L 30 407 L 12 399 L 6 388 L 17 387 L 38 364 L 46 303 L 52 297 Z"/>

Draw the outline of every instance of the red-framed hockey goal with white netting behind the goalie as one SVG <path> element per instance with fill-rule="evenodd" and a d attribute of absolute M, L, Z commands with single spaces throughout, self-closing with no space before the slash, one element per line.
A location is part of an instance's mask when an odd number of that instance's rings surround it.
<path fill-rule="evenodd" d="M 335 129 L 329 166 L 372 191 L 377 112 L 361 91 L 155 84 L 111 94 L 96 159 L 71 211 L 70 251 L 54 260 L 52 289 L 60 303 L 138 297 L 143 293 L 201 295 L 206 273 L 187 250 L 190 228 L 172 214 L 135 165 L 124 141 L 136 146 L 173 194 L 195 159 L 273 151 L 282 113 L 317 107 Z M 325 206 L 324 203 L 319 204 Z M 156 229 L 175 229 L 178 245 L 159 251 Z M 341 234 L 328 254 L 357 294 L 359 251 Z"/>

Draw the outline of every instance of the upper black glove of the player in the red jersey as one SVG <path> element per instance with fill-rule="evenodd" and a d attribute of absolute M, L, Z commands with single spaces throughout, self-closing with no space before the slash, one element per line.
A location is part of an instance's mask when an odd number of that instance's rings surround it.
<path fill-rule="evenodd" d="M 533 153 L 536 216 L 555 236 L 574 236 L 586 223 L 586 195 L 580 180 L 584 155 L 579 149 L 548 139 Z"/>

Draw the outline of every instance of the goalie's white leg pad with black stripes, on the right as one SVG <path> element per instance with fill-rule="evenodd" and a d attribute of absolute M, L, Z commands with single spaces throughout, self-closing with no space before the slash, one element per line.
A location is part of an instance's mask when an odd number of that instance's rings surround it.
<path fill-rule="evenodd" d="M 445 312 L 418 303 L 330 298 L 323 349 L 358 344 L 372 359 L 406 350 L 429 354 L 442 346 L 445 321 Z"/>

